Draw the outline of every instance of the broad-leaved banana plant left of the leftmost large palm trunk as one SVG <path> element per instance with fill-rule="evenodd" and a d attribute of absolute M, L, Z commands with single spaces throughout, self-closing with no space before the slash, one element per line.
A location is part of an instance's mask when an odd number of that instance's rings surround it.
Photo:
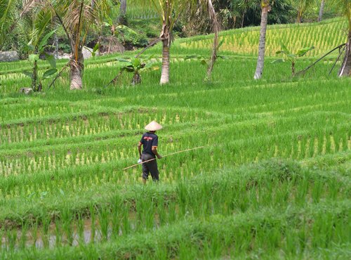
<path fill-rule="evenodd" d="M 48 39 L 50 39 L 55 31 L 56 30 L 48 32 L 48 34 L 41 39 L 39 44 L 34 44 L 33 41 L 29 41 L 27 44 L 27 48 L 30 53 L 28 56 L 28 61 L 32 65 L 32 71 L 25 70 L 22 73 L 32 79 L 32 89 L 34 92 L 41 91 L 41 89 L 43 89 L 42 80 L 51 78 L 56 72 L 58 72 L 55 57 L 45 52 L 46 48 L 50 47 L 50 45 L 48 45 Z M 46 70 L 44 74 L 39 77 L 38 61 L 42 55 L 45 55 L 51 68 Z"/>

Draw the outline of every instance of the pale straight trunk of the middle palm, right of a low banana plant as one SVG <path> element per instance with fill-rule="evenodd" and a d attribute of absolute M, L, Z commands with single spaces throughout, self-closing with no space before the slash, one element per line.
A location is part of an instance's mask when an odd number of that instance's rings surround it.
<path fill-rule="evenodd" d="M 169 27 L 163 25 L 161 32 L 162 39 L 162 69 L 160 84 L 169 83 L 169 48 L 171 47 L 171 34 Z"/>

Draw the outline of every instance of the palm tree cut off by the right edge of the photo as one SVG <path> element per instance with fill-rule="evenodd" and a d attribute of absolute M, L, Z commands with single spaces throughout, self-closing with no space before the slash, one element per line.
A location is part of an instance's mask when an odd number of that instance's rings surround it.
<path fill-rule="evenodd" d="M 348 33 L 345 46 L 345 56 L 340 67 L 339 77 L 351 76 L 351 0 L 336 0 L 336 4 L 347 17 Z"/>

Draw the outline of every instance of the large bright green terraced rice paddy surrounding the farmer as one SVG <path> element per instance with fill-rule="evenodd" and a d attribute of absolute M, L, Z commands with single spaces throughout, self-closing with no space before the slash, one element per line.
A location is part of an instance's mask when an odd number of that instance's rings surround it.
<path fill-rule="evenodd" d="M 338 33 L 316 44 L 343 43 L 342 24 L 320 25 Z M 309 37 L 295 28 L 270 32 Z M 184 59 L 210 53 L 194 39 L 172 46 L 166 86 L 156 70 L 105 87 L 114 55 L 86 60 L 82 91 L 66 73 L 24 96 L 27 62 L 1 63 L 0 258 L 350 259 L 351 80 L 328 75 L 332 59 L 291 78 L 272 57 L 254 81 L 256 56 L 227 51 L 231 41 L 211 82 Z M 152 53 L 159 63 L 160 47 Z M 143 185 L 140 166 L 123 169 L 151 120 L 164 126 L 161 155 L 204 148 L 159 160 L 160 182 Z"/>

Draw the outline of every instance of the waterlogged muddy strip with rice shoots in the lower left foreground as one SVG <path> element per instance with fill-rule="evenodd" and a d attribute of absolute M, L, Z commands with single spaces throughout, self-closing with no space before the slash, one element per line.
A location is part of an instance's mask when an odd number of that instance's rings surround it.
<path fill-rule="evenodd" d="M 113 216 L 110 216 L 113 219 Z M 68 223 L 56 221 L 48 227 L 19 228 L 0 230 L 0 249 L 20 250 L 35 247 L 37 249 L 53 249 L 60 246 L 77 247 L 93 242 L 111 240 L 121 235 L 138 232 L 138 219 L 135 212 L 131 212 L 119 221 L 104 219 L 82 219 Z M 159 228 L 157 216 L 154 218 L 154 228 Z"/>

